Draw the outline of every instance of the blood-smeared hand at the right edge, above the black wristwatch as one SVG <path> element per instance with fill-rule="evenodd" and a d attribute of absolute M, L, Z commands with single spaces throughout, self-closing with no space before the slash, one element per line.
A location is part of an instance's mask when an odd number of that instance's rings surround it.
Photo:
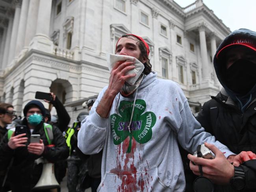
<path fill-rule="evenodd" d="M 242 151 L 238 155 L 228 156 L 228 161 L 233 163 L 234 166 L 239 166 L 243 162 L 251 159 L 256 159 L 256 155 L 255 153 L 252 153 L 252 151 Z"/>

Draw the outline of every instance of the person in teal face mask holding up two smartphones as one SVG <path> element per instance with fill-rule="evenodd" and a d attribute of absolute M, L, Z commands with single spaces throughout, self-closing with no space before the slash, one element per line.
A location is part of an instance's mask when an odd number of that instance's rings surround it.
<path fill-rule="evenodd" d="M 12 192 L 30 192 L 37 183 L 41 176 L 42 164 L 34 166 L 35 159 L 43 157 L 47 161 L 56 162 L 66 159 L 69 155 L 69 148 L 58 127 L 52 126 L 52 132 L 48 132 L 48 137 L 46 136 L 45 127 L 48 124 L 44 123 L 43 103 L 32 100 L 25 105 L 23 113 L 22 125 L 27 128 L 25 133 L 15 135 L 15 131 L 10 138 L 6 133 L 0 144 L 0 170 L 6 170 L 13 159 L 8 173 Z M 49 145 L 51 133 L 53 137 Z M 40 135 L 39 143 L 30 143 L 32 134 Z"/>

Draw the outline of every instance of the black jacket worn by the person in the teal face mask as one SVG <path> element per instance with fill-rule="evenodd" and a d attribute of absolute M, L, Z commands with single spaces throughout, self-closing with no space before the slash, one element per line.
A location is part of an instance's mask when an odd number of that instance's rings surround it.
<path fill-rule="evenodd" d="M 34 103 L 33 103 L 34 104 Z M 43 110 L 43 109 L 41 109 Z M 22 125 L 28 125 L 26 118 L 23 119 Z M 69 148 L 65 142 L 65 138 L 62 136 L 58 127 L 53 126 L 53 140 L 54 147 L 48 147 L 48 141 L 43 128 L 43 122 L 35 127 L 32 134 L 39 134 L 45 145 L 45 150 L 41 156 L 29 153 L 27 147 L 20 147 L 12 150 L 7 145 L 8 136 L 4 136 L 0 143 L 0 170 L 6 170 L 14 158 L 13 164 L 10 168 L 7 181 L 11 185 L 13 192 L 26 191 L 29 192 L 33 185 L 41 175 L 41 165 L 34 164 L 35 159 L 44 157 L 50 162 L 57 162 L 62 159 L 66 159 L 69 156 Z M 27 130 L 28 143 L 30 142 L 30 130 Z"/>

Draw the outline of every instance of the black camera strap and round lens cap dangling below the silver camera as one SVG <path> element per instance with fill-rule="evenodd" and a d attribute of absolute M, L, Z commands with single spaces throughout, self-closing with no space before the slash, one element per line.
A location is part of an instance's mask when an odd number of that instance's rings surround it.
<path fill-rule="evenodd" d="M 202 157 L 201 145 L 197 146 L 197 157 Z M 193 183 L 193 189 L 195 192 L 213 192 L 214 186 L 210 179 L 203 176 L 202 165 L 198 165 L 200 176 L 197 177 Z"/>

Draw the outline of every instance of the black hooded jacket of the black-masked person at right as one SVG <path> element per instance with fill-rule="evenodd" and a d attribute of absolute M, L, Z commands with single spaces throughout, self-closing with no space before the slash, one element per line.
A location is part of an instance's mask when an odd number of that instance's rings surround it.
<path fill-rule="evenodd" d="M 237 38 L 250 38 L 256 42 L 256 32 L 240 29 L 232 32 L 220 44 L 217 53 L 228 42 Z M 256 54 L 256 52 L 255 52 Z M 256 61 L 255 61 L 256 62 Z M 224 87 L 217 96 L 211 96 L 211 100 L 204 103 L 202 111 L 198 114 L 197 120 L 205 131 L 211 133 L 221 143 L 238 154 L 241 151 L 252 151 L 256 153 L 256 85 L 243 96 L 243 98 L 224 83 L 223 65 L 216 55 L 213 60 L 217 77 Z M 245 110 L 241 110 L 238 100 L 249 101 Z M 250 160 L 242 165 L 245 171 L 246 187 L 243 191 L 256 191 L 256 160 Z M 216 191 L 235 191 L 230 186 L 217 186 Z"/>

